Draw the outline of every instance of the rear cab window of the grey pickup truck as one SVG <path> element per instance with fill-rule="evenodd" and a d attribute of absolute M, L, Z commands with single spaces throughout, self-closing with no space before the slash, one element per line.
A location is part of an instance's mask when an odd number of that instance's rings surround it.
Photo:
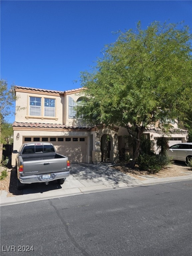
<path fill-rule="evenodd" d="M 22 154 L 51 153 L 55 152 L 52 145 L 29 145 L 25 146 Z"/>

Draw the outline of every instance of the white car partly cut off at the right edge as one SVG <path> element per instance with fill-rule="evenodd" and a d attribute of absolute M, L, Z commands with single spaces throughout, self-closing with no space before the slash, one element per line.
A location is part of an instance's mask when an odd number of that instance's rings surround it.
<path fill-rule="evenodd" d="M 192 143 L 178 143 L 171 146 L 167 150 L 168 156 L 171 156 L 173 160 L 179 160 L 188 162 L 189 159 L 192 159 Z"/>

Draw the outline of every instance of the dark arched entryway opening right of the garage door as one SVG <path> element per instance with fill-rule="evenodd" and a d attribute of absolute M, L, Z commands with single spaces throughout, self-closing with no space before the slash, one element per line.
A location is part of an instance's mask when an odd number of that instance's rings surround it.
<path fill-rule="evenodd" d="M 101 161 L 113 161 L 110 151 L 113 148 L 113 139 L 111 135 L 103 134 L 101 137 Z"/>

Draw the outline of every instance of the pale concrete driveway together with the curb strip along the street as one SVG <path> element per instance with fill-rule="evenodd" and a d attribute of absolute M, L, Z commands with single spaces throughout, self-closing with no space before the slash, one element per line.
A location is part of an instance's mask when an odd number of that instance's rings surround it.
<path fill-rule="evenodd" d="M 161 179 L 151 177 L 147 178 L 145 181 L 140 181 L 128 174 L 115 170 L 110 163 L 71 164 L 70 176 L 65 180 L 64 184 L 58 185 L 57 181 L 52 181 L 48 185 L 45 185 L 44 183 L 28 184 L 23 189 L 23 195 L 6 197 L 5 193 L 1 193 L 0 205 L 26 203 L 102 190 L 128 188 L 188 179 L 191 179 L 191 175 Z"/>

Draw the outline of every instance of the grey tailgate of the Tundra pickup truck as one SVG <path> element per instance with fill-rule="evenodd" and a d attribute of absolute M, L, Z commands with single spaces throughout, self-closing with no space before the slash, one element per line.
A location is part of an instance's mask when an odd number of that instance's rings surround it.
<path fill-rule="evenodd" d="M 26 161 L 23 163 L 23 176 L 47 174 L 67 170 L 67 158 Z"/>

